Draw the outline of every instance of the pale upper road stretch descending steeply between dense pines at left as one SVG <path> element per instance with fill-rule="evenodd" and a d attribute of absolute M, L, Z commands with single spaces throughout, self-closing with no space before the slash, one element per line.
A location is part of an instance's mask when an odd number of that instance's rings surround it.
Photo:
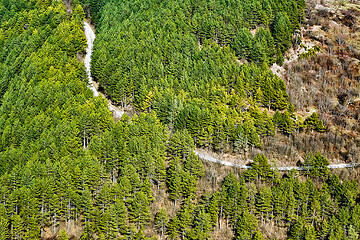
<path fill-rule="evenodd" d="M 92 30 L 92 28 L 86 21 L 84 21 L 84 31 L 85 31 L 86 41 L 87 41 L 87 45 L 88 45 L 86 48 L 86 56 L 85 56 L 85 60 L 84 60 L 84 65 L 85 65 L 86 72 L 87 72 L 88 78 L 89 78 L 88 87 L 93 92 L 94 97 L 101 95 L 103 98 L 106 99 L 106 97 L 103 94 L 99 93 L 99 91 L 94 86 L 94 81 L 91 76 L 91 55 L 92 55 L 92 48 L 94 46 L 94 40 L 95 40 L 96 36 L 95 36 L 94 31 Z M 118 118 L 118 119 L 121 118 L 121 116 L 124 114 L 124 111 L 122 111 L 119 108 L 117 108 L 116 106 L 112 105 L 110 100 L 107 99 L 107 101 L 108 101 L 109 110 L 113 113 L 114 117 Z"/>

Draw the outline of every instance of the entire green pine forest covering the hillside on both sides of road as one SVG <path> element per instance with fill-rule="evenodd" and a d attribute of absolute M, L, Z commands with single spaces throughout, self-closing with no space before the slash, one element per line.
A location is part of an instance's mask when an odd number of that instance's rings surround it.
<path fill-rule="evenodd" d="M 294 113 L 268 67 L 284 60 L 305 8 L 0 0 L 0 240 L 359 239 L 357 181 L 322 154 L 308 152 L 303 172 L 279 172 L 258 154 L 210 184 L 194 153 L 327 131 L 317 113 Z M 87 87 L 89 12 L 92 74 L 135 112 L 116 121 Z"/>

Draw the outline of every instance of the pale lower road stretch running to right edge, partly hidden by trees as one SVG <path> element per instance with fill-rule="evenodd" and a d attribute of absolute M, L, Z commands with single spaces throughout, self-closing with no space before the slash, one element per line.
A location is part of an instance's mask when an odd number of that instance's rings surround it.
<path fill-rule="evenodd" d="M 211 157 L 210 155 L 206 155 L 203 153 L 199 153 L 196 150 L 194 151 L 195 155 L 198 156 L 199 158 L 206 160 L 206 161 L 210 161 L 210 162 L 214 162 L 214 163 L 219 163 L 225 166 L 231 166 L 231 167 L 237 167 L 237 168 L 243 168 L 243 169 L 249 169 L 251 168 L 251 166 L 248 165 L 241 165 L 241 164 L 235 164 L 232 162 L 227 162 L 227 161 L 223 161 L 214 157 Z M 341 163 L 341 164 L 331 164 L 328 165 L 328 168 L 354 168 L 354 167 L 359 167 L 360 163 Z M 272 167 L 273 170 L 277 170 L 277 171 L 290 171 L 292 169 L 298 170 L 298 171 L 306 171 L 309 169 L 309 167 L 297 167 L 297 166 L 291 166 L 291 167 Z"/>

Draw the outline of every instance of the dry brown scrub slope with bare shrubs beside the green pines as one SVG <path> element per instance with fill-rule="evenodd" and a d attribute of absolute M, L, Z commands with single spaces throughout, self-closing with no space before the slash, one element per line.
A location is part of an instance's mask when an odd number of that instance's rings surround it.
<path fill-rule="evenodd" d="M 286 63 L 283 78 L 297 115 L 316 111 L 328 132 L 269 137 L 263 152 L 288 164 L 302 161 L 308 152 L 321 152 L 334 163 L 359 162 L 360 11 L 346 3 L 307 4 L 303 43 L 321 51 Z"/>

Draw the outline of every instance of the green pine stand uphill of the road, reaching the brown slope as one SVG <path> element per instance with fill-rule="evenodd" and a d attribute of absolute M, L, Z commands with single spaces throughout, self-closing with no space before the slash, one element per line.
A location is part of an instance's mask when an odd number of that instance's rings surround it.
<path fill-rule="evenodd" d="M 291 43 L 304 8 L 297 1 L 87 3 L 98 27 L 92 74 L 105 93 L 123 107 L 156 112 L 172 132 L 186 129 L 196 146 L 260 147 L 262 129 L 244 127 L 247 144 L 235 126 L 252 125 L 250 107 L 289 105 L 267 64 L 290 46 L 283 40 Z M 239 66 L 239 58 L 250 64 Z"/>

